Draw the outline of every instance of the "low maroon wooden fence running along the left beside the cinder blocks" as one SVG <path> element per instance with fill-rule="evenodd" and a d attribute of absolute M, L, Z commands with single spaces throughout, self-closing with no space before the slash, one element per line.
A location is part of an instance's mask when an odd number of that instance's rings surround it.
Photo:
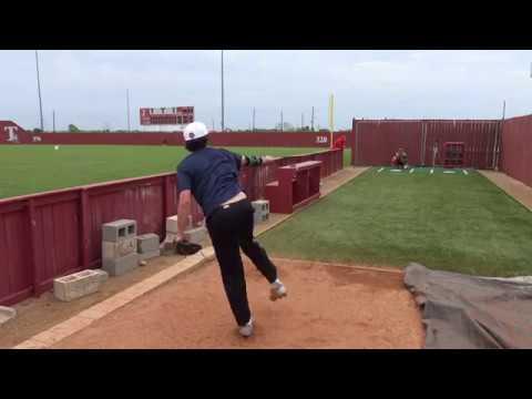
<path fill-rule="evenodd" d="M 323 162 L 321 176 L 342 168 L 340 150 L 288 156 L 244 167 L 243 188 L 259 198 L 278 166 L 310 160 Z M 0 305 L 39 295 L 61 275 L 99 267 L 104 223 L 132 218 L 139 234 L 163 236 L 177 202 L 175 173 L 0 200 Z M 196 221 L 203 217 L 195 203 L 192 213 Z"/>

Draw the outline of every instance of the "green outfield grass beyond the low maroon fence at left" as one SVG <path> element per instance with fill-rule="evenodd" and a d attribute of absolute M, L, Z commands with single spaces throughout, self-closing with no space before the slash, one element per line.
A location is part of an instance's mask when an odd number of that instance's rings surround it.
<path fill-rule="evenodd" d="M 250 155 L 286 156 L 319 149 L 233 147 Z M 180 146 L 0 145 L 0 198 L 119 178 L 173 172 L 187 154 Z M 345 162 L 350 153 L 346 151 Z"/>

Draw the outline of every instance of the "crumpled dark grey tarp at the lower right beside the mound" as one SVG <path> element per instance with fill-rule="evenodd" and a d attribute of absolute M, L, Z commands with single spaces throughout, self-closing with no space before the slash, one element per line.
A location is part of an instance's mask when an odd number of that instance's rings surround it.
<path fill-rule="evenodd" d="M 421 307 L 427 349 L 532 348 L 532 284 L 419 264 L 405 272 Z"/>

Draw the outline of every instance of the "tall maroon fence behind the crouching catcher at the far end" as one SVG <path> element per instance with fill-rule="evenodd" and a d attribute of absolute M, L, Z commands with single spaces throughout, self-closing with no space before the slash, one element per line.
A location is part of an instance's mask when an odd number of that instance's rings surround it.
<path fill-rule="evenodd" d="M 354 165 L 388 165 L 403 147 L 412 165 L 432 165 L 432 146 L 438 143 L 437 165 L 442 165 L 443 143 L 466 143 L 466 167 L 492 168 L 501 132 L 497 120 L 361 120 L 354 121 Z"/>

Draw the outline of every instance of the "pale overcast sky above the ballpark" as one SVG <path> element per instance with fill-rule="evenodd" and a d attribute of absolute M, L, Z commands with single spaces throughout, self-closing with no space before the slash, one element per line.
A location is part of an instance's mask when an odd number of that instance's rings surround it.
<path fill-rule="evenodd" d="M 225 124 L 327 125 L 352 117 L 491 119 L 532 113 L 532 51 L 225 51 Z M 44 129 L 132 129 L 139 108 L 195 106 L 196 120 L 221 125 L 221 52 L 39 51 Z M 39 126 L 34 51 L 0 51 L 0 120 Z"/>

